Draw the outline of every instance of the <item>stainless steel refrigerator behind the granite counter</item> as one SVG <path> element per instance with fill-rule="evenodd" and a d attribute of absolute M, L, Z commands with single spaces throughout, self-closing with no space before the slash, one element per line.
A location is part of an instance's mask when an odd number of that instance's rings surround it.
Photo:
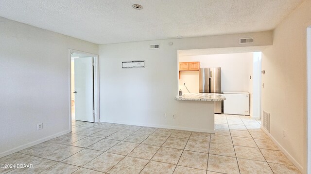
<path fill-rule="evenodd" d="M 199 71 L 199 92 L 200 93 L 222 93 L 221 68 L 200 68 Z M 222 102 L 215 102 L 214 112 L 222 113 Z"/>

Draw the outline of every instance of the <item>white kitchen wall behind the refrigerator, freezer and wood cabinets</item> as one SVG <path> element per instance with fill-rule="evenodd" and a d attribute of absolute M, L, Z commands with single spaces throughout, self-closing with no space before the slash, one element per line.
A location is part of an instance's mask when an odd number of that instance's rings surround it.
<path fill-rule="evenodd" d="M 250 93 L 250 116 L 253 116 L 253 53 L 213 54 L 196 56 L 179 56 L 179 62 L 199 61 L 201 68 L 222 68 L 222 91 L 246 91 Z M 183 93 L 199 93 L 199 72 L 180 73 L 179 89 Z"/>

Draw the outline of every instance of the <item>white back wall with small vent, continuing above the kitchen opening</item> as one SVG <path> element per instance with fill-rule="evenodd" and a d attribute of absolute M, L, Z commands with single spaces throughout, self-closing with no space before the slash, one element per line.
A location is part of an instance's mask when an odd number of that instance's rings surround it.
<path fill-rule="evenodd" d="M 271 34 L 266 31 L 99 45 L 100 91 L 104 91 L 100 93 L 100 120 L 188 130 L 201 125 L 202 121 L 194 118 L 205 111 L 198 110 L 193 116 L 181 112 L 185 101 L 173 99 L 178 95 L 177 51 L 245 46 L 239 44 L 239 38 L 250 36 L 256 38 L 254 46 L 270 45 Z M 159 43 L 160 49 L 149 49 L 154 43 Z M 145 68 L 122 69 L 121 61 L 128 60 L 145 60 Z M 173 113 L 176 119 L 171 117 Z"/>

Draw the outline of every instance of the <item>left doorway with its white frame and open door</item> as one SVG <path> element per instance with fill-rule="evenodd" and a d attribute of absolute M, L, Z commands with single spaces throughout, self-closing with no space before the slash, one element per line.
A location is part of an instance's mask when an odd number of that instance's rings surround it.
<path fill-rule="evenodd" d="M 99 122 L 98 55 L 69 49 L 69 118 Z"/>

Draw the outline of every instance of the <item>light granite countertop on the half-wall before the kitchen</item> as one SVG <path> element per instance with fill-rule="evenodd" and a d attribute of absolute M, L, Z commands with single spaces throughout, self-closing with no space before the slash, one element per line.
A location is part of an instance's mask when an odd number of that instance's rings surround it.
<path fill-rule="evenodd" d="M 225 96 L 223 94 L 216 93 L 187 93 L 182 96 L 174 97 L 175 100 L 183 100 L 183 101 L 224 101 Z"/>

